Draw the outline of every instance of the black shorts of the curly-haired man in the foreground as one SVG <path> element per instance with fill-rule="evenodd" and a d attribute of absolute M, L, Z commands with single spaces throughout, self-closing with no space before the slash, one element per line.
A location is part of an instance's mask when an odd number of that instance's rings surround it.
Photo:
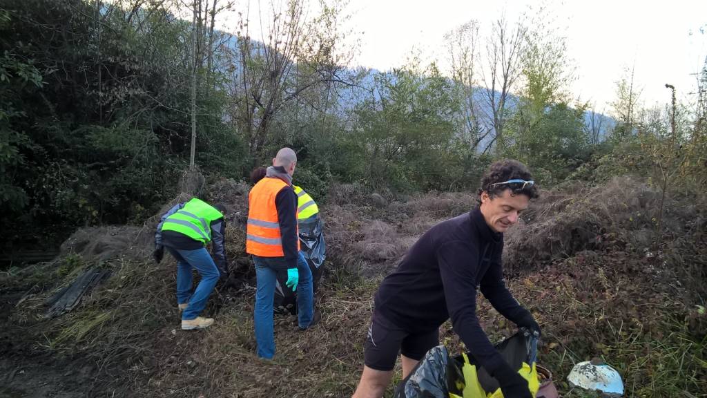
<path fill-rule="evenodd" d="M 398 352 L 407 358 L 421 360 L 427 351 L 439 344 L 439 329 L 410 333 L 373 311 L 366 337 L 363 358 L 366 366 L 388 371 L 395 368 Z"/>

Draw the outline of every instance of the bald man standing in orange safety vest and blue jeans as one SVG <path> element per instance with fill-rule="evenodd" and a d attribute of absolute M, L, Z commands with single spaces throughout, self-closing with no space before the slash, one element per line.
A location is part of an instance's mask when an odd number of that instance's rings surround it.
<path fill-rule="evenodd" d="M 255 263 L 255 340 L 257 355 L 265 359 L 275 356 L 273 302 L 279 273 L 286 273 L 286 286 L 297 291 L 299 328 L 312 326 L 312 273 L 300 261 L 297 195 L 292 188 L 296 164 L 292 149 L 280 149 L 265 177 L 248 193 L 245 251 Z"/>

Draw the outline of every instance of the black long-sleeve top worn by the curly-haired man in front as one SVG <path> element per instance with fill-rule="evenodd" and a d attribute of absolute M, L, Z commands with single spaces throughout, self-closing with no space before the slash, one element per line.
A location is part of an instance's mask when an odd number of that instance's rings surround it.
<path fill-rule="evenodd" d="M 431 331 L 452 319 L 472 356 L 493 374 L 505 362 L 479 324 L 477 287 L 512 322 L 531 316 L 506 288 L 502 252 L 503 234 L 491 230 L 478 208 L 440 222 L 383 280 L 375 309 L 411 332 Z"/>

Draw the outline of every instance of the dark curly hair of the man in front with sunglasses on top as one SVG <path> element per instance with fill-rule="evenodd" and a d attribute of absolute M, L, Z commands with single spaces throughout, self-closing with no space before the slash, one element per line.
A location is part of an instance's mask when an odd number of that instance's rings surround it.
<path fill-rule="evenodd" d="M 537 186 L 525 186 L 525 188 L 513 189 L 508 186 L 508 184 L 493 185 L 495 183 L 502 183 L 508 180 L 532 180 L 532 175 L 530 170 L 525 166 L 525 164 L 520 163 L 520 161 L 512 159 L 503 159 L 493 162 L 489 169 L 486 170 L 484 176 L 481 176 L 481 188 L 479 188 L 479 196 L 481 193 L 486 191 L 489 196 L 493 199 L 496 195 L 501 195 L 506 189 L 512 189 L 513 195 L 526 195 L 530 199 L 535 199 L 539 197 L 537 191 Z"/>

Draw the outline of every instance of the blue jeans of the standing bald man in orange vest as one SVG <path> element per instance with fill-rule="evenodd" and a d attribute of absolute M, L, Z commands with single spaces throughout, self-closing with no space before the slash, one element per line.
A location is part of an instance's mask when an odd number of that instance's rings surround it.
<path fill-rule="evenodd" d="M 284 268 L 284 257 L 252 256 L 255 263 L 257 291 L 255 292 L 255 341 L 260 358 L 272 359 L 275 356 L 275 333 L 273 326 L 273 300 L 277 271 Z M 312 297 L 312 271 L 300 251 L 297 261 L 299 281 L 297 283 L 298 324 L 306 328 L 312 322 L 314 297 Z M 283 288 L 287 288 L 283 286 Z"/>

